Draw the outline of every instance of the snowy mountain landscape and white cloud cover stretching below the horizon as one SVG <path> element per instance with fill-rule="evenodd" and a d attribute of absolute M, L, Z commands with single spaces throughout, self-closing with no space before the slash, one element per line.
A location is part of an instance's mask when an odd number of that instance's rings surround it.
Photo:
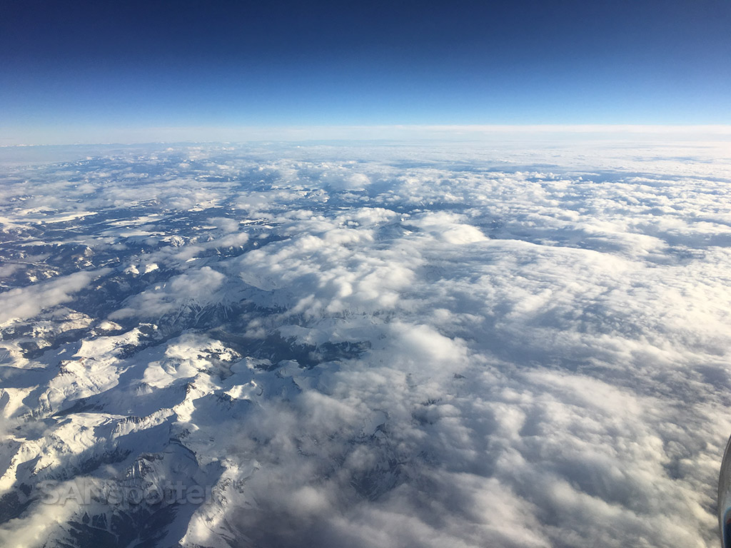
<path fill-rule="evenodd" d="M 0 545 L 715 546 L 724 146 L 4 167 Z"/>

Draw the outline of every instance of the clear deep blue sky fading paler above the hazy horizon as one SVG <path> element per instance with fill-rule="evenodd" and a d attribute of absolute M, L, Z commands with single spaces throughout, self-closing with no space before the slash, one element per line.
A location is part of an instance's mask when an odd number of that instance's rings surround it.
<path fill-rule="evenodd" d="M 89 129 L 731 123 L 731 3 L 0 6 L 0 143 Z"/>

